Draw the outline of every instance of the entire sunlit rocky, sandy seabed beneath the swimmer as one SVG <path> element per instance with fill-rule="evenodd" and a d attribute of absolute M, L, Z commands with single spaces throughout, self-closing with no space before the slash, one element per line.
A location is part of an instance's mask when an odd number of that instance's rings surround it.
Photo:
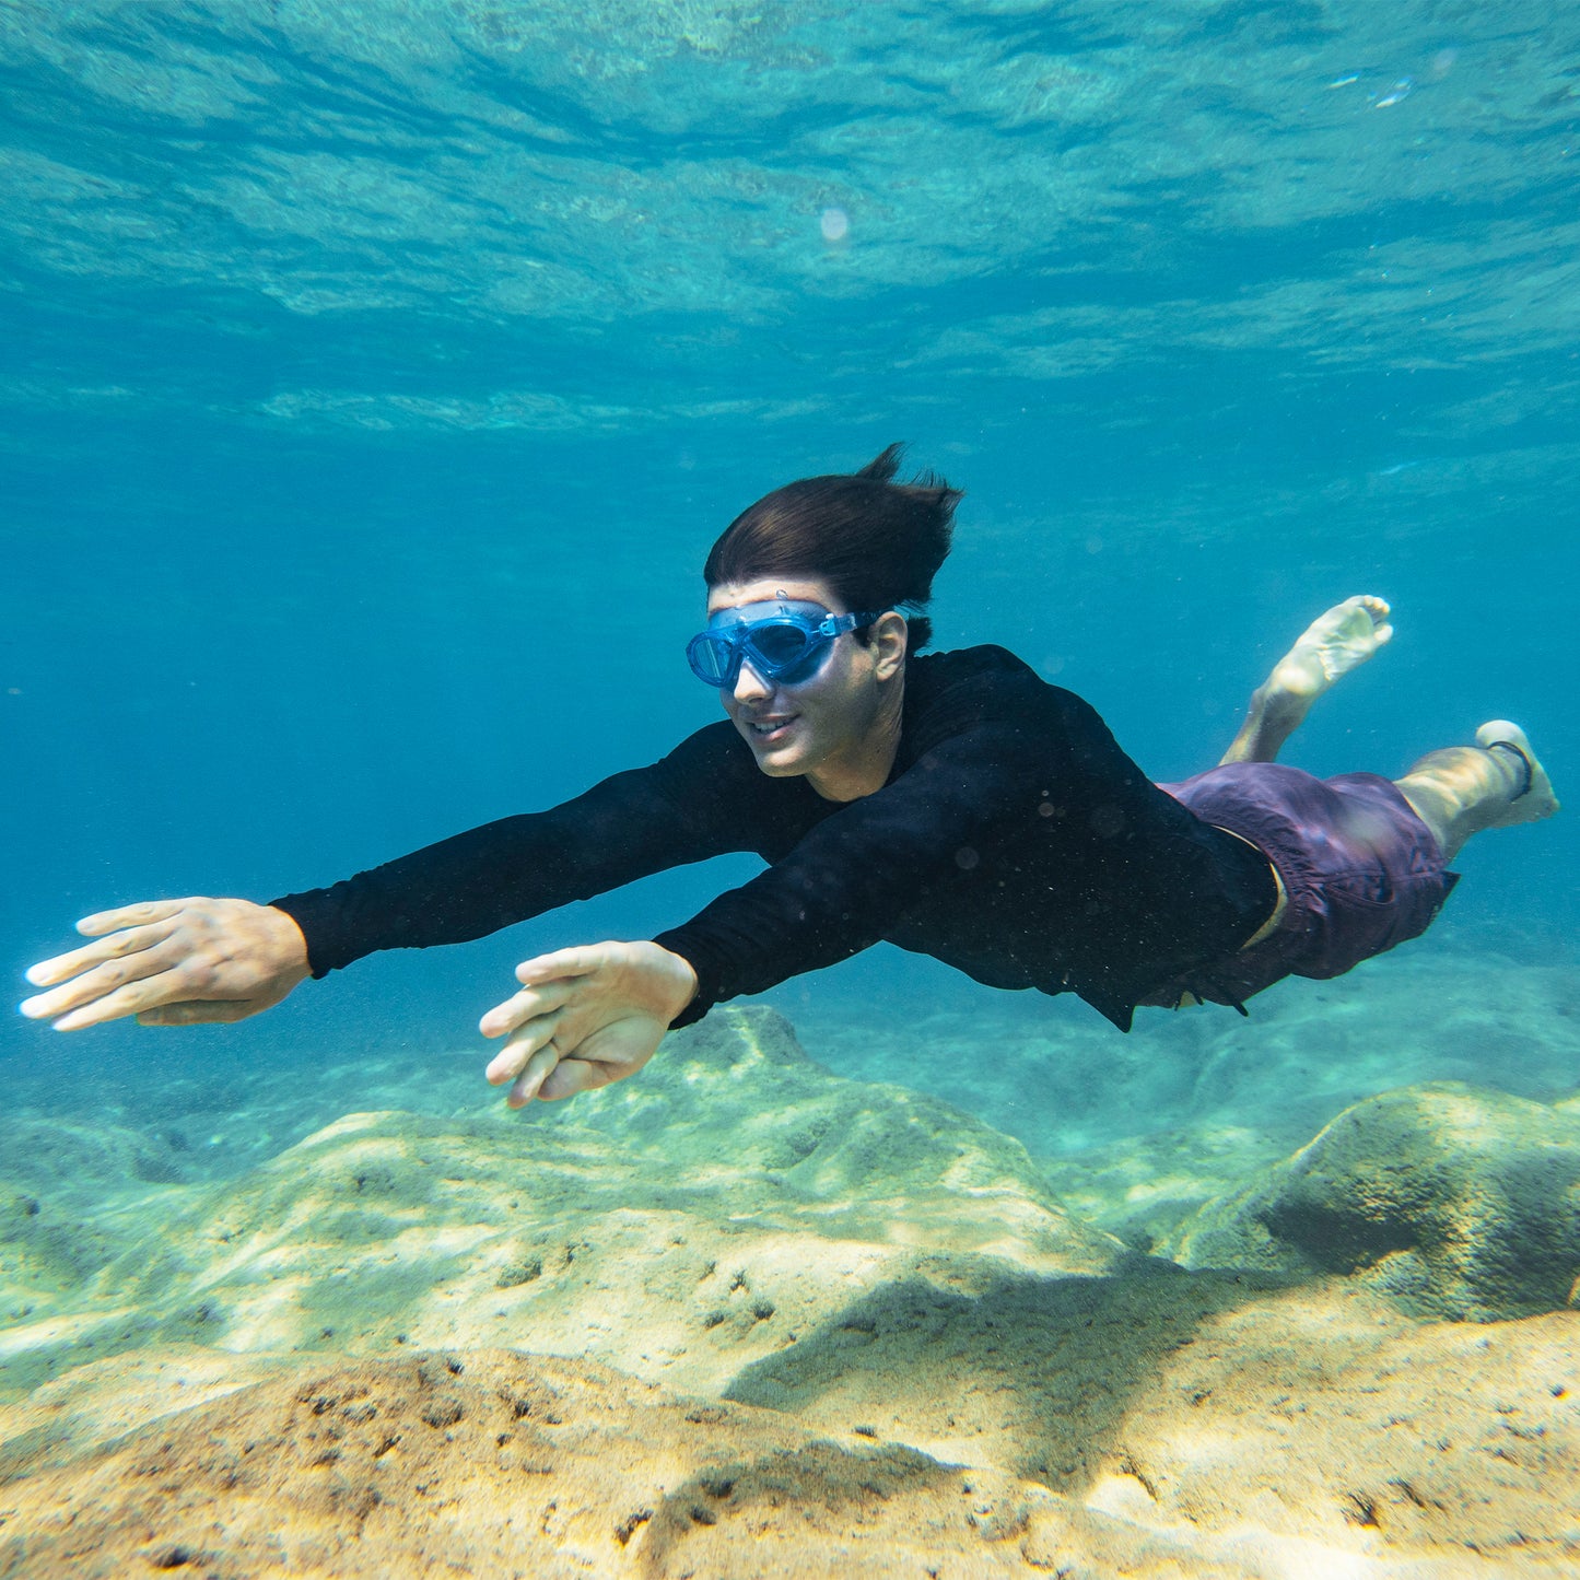
<path fill-rule="evenodd" d="M 970 1027 L 1019 1139 L 766 1008 L 528 1120 L 19 1103 L 0 1577 L 1577 1574 L 1577 1011 L 1294 984 L 1079 1147 L 1146 1038 Z"/>

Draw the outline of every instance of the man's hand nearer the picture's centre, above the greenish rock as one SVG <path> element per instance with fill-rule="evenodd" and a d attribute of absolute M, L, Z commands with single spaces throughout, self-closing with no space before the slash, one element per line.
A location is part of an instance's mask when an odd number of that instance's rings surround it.
<path fill-rule="evenodd" d="M 589 943 L 523 961 L 521 992 L 490 1010 L 483 1036 L 509 1041 L 488 1065 L 523 1108 L 635 1074 L 697 994 L 687 961 L 656 943 Z"/>

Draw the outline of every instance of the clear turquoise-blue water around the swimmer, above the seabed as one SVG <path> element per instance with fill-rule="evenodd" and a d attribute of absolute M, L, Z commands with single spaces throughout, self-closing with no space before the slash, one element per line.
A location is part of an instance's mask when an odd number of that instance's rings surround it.
<path fill-rule="evenodd" d="M 1566 3 L 8 5 L 6 957 L 651 760 L 714 706 L 716 532 L 893 439 L 967 490 L 939 645 L 1014 648 L 1157 777 L 1376 591 L 1397 641 L 1289 760 L 1397 773 L 1509 714 L 1563 792 L 1577 44 Z M 1566 818 L 1479 841 L 1414 954 L 1567 967 L 1575 855 Z M 749 871 L 237 1029 L 13 1018 L 0 1057 L 87 1109 L 193 1063 L 420 1079 L 482 1062 L 517 959 Z M 858 1073 L 918 995 L 1097 1024 L 888 950 L 776 1002 Z"/>

